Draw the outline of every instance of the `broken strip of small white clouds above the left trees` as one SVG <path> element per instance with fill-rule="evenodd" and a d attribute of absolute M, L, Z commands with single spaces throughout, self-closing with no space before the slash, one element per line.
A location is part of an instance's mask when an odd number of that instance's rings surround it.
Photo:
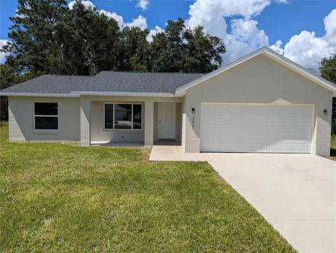
<path fill-rule="evenodd" d="M 76 1 L 71 1 L 69 2 L 69 9 L 71 10 L 73 8 L 73 5 L 76 3 Z M 86 7 L 86 8 L 95 8 L 94 4 L 92 1 L 81 1 L 81 3 Z M 148 2 L 149 3 L 149 2 Z M 138 18 L 134 18 L 132 22 L 125 22 L 123 16 L 118 15 L 115 12 L 110 12 L 106 10 L 100 10 L 99 13 L 108 16 L 109 18 L 113 18 L 118 22 L 118 25 L 120 28 L 123 27 L 139 27 L 140 29 L 146 29 L 148 27 L 147 25 L 147 20 L 143 16 L 139 15 Z"/>

